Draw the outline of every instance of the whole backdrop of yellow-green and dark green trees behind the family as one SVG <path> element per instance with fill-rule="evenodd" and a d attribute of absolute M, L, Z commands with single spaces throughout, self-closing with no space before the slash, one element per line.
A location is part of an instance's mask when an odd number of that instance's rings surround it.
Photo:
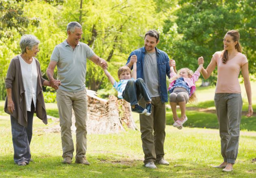
<path fill-rule="evenodd" d="M 197 68 L 198 57 L 204 57 L 206 67 L 213 53 L 223 49 L 222 38 L 228 30 L 239 30 L 249 72 L 254 75 L 255 5 L 255 0 L 0 0 L 0 99 L 6 95 L 4 78 L 9 62 L 20 53 L 21 35 L 34 34 L 41 41 L 37 58 L 47 78 L 52 51 L 66 39 L 70 21 L 81 23 L 81 41 L 108 61 L 115 78 L 130 52 L 143 46 L 144 34 L 150 29 L 160 32 L 158 48 L 176 59 L 177 68 L 192 70 Z M 215 84 L 216 70 L 209 80 Z M 102 69 L 91 61 L 87 63 L 86 86 L 95 91 L 112 87 Z"/>

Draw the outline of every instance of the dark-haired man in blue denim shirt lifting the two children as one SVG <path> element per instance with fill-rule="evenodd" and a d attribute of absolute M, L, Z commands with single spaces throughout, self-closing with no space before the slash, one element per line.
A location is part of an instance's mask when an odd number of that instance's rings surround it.
<path fill-rule="evenodd" d="M 144 152 L 144 165 L 157 168 L 154 163 L 169 165 L 164 159 L 165 142 L 165 102 L 168 101 L 166 76 L 169 77 L 169 57 L 156 48 L 159 34 L 156 30 L 149 30 L 145 34 L 144 47 L 130 53 L 127 66 L 132 68 L 137 62 L 137 78 L 143 78 L 152 97 L 152 114 L 140 115 L 141 140 Z M 132 57 L 132 55 L 136 55 Z M 145 100 L 139 101 L 140 106 L 145 106 Z M 154 134 L 153 134 L 154 131 Z"/>

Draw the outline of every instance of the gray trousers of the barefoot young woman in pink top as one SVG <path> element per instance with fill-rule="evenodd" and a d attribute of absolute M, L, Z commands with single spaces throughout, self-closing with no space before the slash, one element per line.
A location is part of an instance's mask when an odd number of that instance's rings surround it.
<path fill-rule="evenodd" d="M 238 153 L 243 106 L 241 93 L 215 93 L 214 102 L 219 121 L 221 155 L 225 162 L 234 164 Z"/>

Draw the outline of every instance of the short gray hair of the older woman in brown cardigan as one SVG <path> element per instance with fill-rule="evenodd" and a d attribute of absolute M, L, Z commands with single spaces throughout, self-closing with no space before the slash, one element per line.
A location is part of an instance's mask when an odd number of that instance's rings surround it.
<path fill-rule="evenodd" d="M 26 53 L 26 48 L 32 49 L 33 46 L 39 44 L 39 40 L 34 35 L 23 35 L 20 39 L 20 49 L 22 54 Z"/>

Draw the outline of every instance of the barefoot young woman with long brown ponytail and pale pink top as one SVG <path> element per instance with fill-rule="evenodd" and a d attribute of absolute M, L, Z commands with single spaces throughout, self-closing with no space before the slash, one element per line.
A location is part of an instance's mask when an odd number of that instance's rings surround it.
<path fill-rule="evenodd" d="M 249 103 L 247 117 L 251 117 L 252 110 L 252 91 L 249 81 L 248 61 L 243 55 L 242 47 L 239 43 L 239 32 L 230 30 L 226 33 L 223 44 L 224 50 L 214 53 L 210 64 L 206 69 L 202 69 L 202 76 L 207 79 L 217 66 L 217 84 L 215 90 L 215 107 L 217 119 L 219 121 L 219 133 L 221 138 L 221 155 L 223 163 L 217 168 L 224 168 L 223 171 L 233 170 L 238 145 L 239 131 L 242 113 L 242 97 L 239 85 L 239 73 L 242 70 L 245 90 Z M 198 58 L 198 64 L 204 61 L 202 57 Z"/>

